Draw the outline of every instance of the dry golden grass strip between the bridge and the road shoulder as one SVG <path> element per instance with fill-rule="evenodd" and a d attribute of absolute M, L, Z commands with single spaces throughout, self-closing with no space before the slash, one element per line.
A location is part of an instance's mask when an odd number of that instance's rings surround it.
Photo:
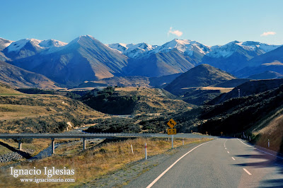
<path fill-rule="evenodd" d="M 185 144 L 207 141 L 209 139 L 184 139 Z M 74 183 L 52 182 L 39 184 L 23 183 L 20 178 L 34 178 L 34 175 L 15 178 L 10 175 L 11 170 L 2 170 L 0 173 L 0 187 L 73 187 L 95 180 L 102 175 L 106 175 L 117 169 L 122 168 L 125 164 L 144 158 L 144 144 L 147 143 L 148 155 L 156 155 L 164 153 L 171 148 L 171 141 L 166 139 L 145 139 L 138 138 L 113 143 L 105 143 L 100 147 L 90 148 L 76 155 L 54 155 L 50 158 L 36 160 L 33 162 L 21 163 L 16 169 L 40 169 L 44 171 L 44 167 L 75 170 L 75 175 L 54 175 L 52 178 L 74 178 Z M 131 144 L 134 154 L 132 154 Z M 182 146 L 182 139 L 175 139 L 174 146 Z M 77 146 L 75 146 L 77 147 Z M 9 171 L 10 170 L 10 171 Z M 46 175 L 36 175 L 37 178 L 47 178 Z"/>

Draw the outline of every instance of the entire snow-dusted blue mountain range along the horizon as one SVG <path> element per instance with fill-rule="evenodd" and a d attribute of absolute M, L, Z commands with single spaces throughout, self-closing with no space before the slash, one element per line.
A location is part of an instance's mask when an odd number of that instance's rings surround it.
<path fill-rule="evenodd" d="M 181 74 L 199 64 L 212 65 L 238 78 L 265 71 L 283 74 L 283 47 L 252 41 L 207 46 L 175 39 L 158 46 L 144 42 L 104 45 L 90 35 L 77 37 L 69 44 L 0 38 L 0 60 L 68 87 L 113 76 Z"/>

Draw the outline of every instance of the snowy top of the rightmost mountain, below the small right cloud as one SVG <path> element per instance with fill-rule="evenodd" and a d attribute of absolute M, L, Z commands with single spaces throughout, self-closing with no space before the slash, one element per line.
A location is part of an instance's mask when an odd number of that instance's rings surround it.
<path fill-rule="evenodd" d="M 230 57 L 234 52 L 241 49 L 246 50 L 246 52 L 256 52 L 260 54 L 265 54 L 266 52 L 270 52 L 273 49 L 277 49 L 277 47 L 280 47 L 280 45 L 267 45 L 265 43 L 253 41 L 239 42 L 235 40 L 223 46 L 212 47 L 212 52 L 207 54 L 207 56 L 215 58 L 227 58 Z"/>

